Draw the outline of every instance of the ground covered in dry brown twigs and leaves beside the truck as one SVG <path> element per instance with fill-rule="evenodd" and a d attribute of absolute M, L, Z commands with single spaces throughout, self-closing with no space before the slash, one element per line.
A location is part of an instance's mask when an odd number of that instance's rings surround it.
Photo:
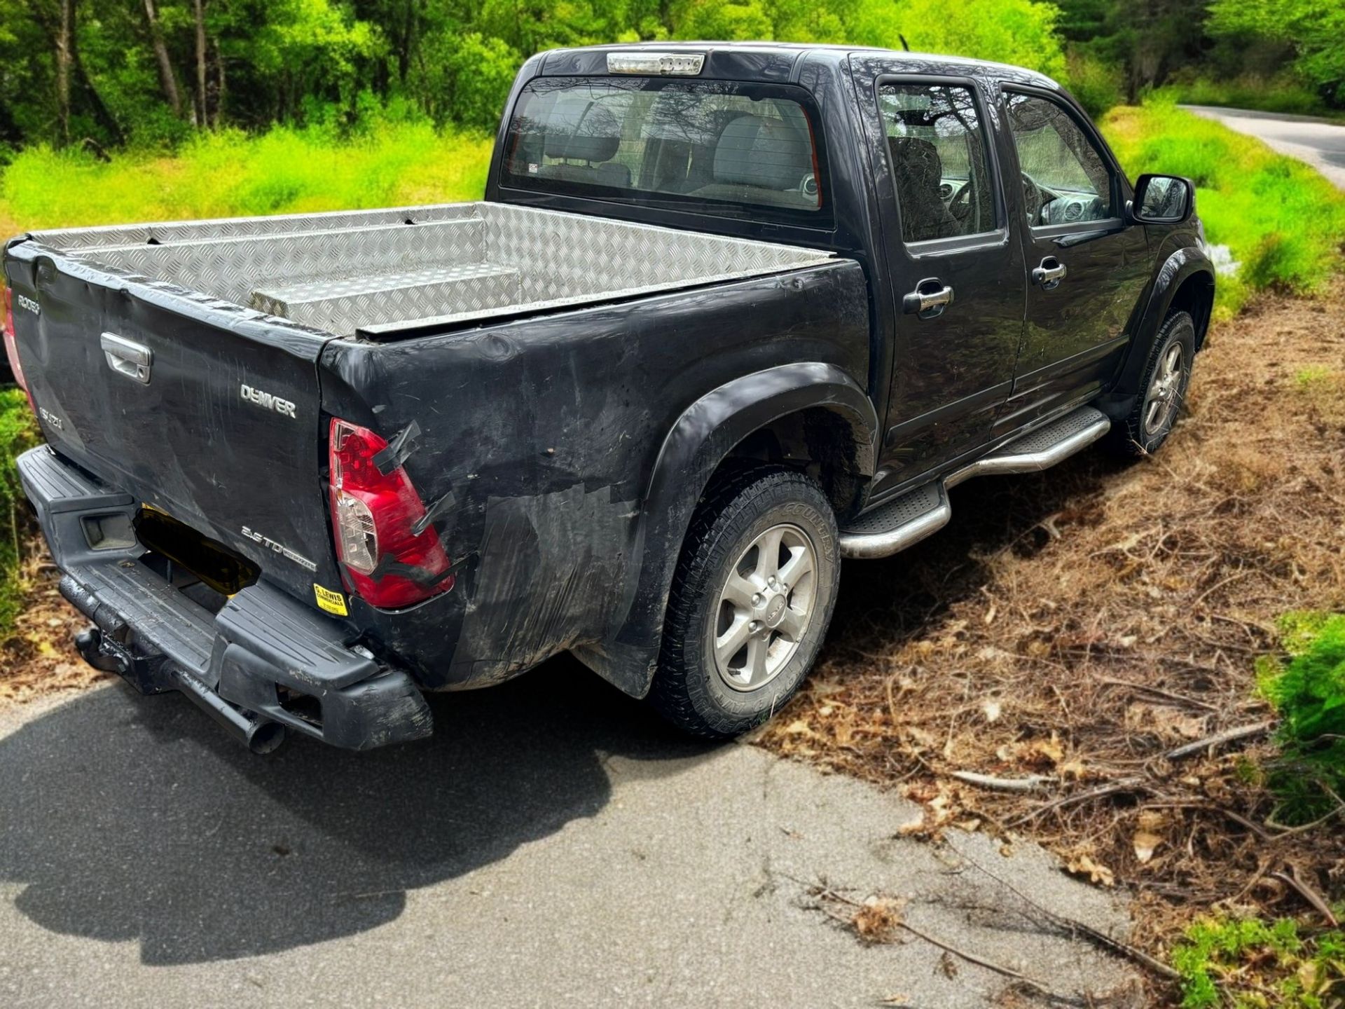
<path fill-rule="evenodd" d="M 847 564 L 759 741 L 900 788 L 908 833 L 1026 837 L 1126 884 L 1150 948 L 1197 911 L 1311 913 L 1345 835 L 1275 823 L 1254 661 L 1280 613 L 1345 608 L 1342 470 L 1345 291 L 1266 297 L 1216 326 L 1159 455 L 963 484 L 940 534 Z"/>

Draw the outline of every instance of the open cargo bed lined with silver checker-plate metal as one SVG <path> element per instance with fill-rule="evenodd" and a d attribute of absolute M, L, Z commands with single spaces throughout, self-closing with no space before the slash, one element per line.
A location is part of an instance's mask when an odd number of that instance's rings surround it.
<path fill-rule="evenodd" d="M 740 280 L 830 258 L 506 203 L 43 231 L 91 266 L 370 339 Z"/>

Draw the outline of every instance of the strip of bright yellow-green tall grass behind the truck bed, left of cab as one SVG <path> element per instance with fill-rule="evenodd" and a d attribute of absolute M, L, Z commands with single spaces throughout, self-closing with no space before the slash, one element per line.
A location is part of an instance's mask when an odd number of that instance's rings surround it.
<path fill-rule="evenodd" d="M 286 214 L 476 199 L 491 141 L 428 124 L 381 124 L 338 140 L 276 128 L 207 135 L 175 156 L 112 161 L 46 147 L 0 175 L 0 235 L 40 227 Z"/>

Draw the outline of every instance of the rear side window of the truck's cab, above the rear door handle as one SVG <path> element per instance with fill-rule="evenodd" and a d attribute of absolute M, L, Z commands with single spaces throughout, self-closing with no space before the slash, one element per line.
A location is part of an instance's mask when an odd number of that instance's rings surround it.
<path fill-rule="evenodd" d="M 878 87 L 901 238 L 927 242 L 994 231 L 995 200 L 985 124 L 970 87 Z"/>

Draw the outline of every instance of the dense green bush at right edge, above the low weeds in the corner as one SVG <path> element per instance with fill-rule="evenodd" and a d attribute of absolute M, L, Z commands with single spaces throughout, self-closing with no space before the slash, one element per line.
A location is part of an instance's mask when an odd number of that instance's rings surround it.
<path fill-rule="evenodd" d="M 1262 694 L 1279 714 L 1280 757 L 1266 784 L 1276 818 L 1306 823 L 1337 807 L 1345 790 L 1345 613 L 1279 619 L 1284 658 L 1258 663 Z"/>

